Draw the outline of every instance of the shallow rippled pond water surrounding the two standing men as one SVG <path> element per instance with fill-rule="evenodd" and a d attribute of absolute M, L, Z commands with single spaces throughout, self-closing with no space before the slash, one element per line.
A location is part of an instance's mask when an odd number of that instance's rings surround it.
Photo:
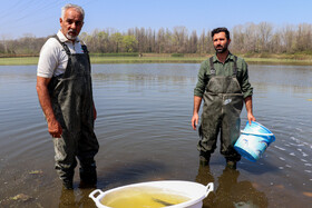
<path fill-rule="evenodd" d="M 257 162 L 198 166 L 192 130 L 199 65 L 95 65 L 98 188 L 175 179 L 215 190 L 204 207 L 308 207 L 312 202 L 312 67 L 250 66 L 254 115 L 276 140 Z M 36 66 L 0 67 L 0 207 L 95 207 L 91 189 L 62 191 L 36 93 Z M 242 112 L 242 128 L 246 123 Z M 23 194 L 23 195 L 21 195 Z"/>

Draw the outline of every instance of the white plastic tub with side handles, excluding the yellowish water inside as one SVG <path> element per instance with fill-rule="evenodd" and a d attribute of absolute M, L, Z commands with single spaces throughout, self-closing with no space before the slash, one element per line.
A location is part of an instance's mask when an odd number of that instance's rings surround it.
<path fill-rule="evenodd" d="M 100 189 L 96 189 L 90 192 L 89 197 L 95 201 L 98 208 L 109 208 L 103 205 L 101 199 L 113 191 L 119 191 L 125 188 L 135 188 L 135 187 L 150 187 L 150 188 L 162 188 L 166 191 L 176 192 L 183 195 L 189 200 L 181 202 L 177 205 L 167 206 L 167 208 L 202 208 L 203 199 L 208 196 L 214 189 L 213 182 L 209 182 L 207 186 L 203 186 L 198 182 L 192 181 L 182 181 L 182 180 L 162 180 L 162 181 L 150 181 L 150 182 L 139 182 L 128 186 L 123 186 L 114 188 L 103 192 Z M 97 196 L 96 196 L 97 195 Z"/>

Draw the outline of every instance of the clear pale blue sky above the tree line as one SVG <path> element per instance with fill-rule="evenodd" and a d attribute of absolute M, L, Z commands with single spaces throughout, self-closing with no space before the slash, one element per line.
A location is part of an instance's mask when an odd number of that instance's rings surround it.
<path fill-rule="evenodd" d="M 312 23 L 311 0 L 0 0 L 0 40 L 57 33 L 66 3 L 85 9 L 81 32 L 186 27 L 191 33 L 246 23 L 274 28 Z"/>

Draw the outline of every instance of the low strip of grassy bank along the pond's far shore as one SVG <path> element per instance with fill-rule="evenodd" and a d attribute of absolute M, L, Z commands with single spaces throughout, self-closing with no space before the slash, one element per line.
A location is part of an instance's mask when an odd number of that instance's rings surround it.
<path fill-rule="evenodd" d="M 312 55 L 267 55 L 243 57 L 250 65 L 305 65 L 312 66 Z M 91 63 L 201 63 L 209 56 L 185 55 L 172 57 L 170 55 L 144 53 L 143 57 L 104 57 L 91 56 Z M 0 66 L 37 65 L 38 57 L 0 58 Z"/>

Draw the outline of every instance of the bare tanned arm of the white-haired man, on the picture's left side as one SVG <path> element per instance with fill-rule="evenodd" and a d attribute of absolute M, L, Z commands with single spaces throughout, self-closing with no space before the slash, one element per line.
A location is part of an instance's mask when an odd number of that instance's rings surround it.
<path fill-rule="evenodd" d="M 62 129 L 60 123 L 57 121 L 51 99 L 48 90 L 48 85 L 50 82 L 51 78 L 43 78 L 37 76 L 37 93 L 39 98 L 40 106 L 42 108 L 42 111 L 46 116 L 47 122 L 48 122 L 48 131 L 49 133 L 55 138 L 60 138 L 62 133 Z"/>

